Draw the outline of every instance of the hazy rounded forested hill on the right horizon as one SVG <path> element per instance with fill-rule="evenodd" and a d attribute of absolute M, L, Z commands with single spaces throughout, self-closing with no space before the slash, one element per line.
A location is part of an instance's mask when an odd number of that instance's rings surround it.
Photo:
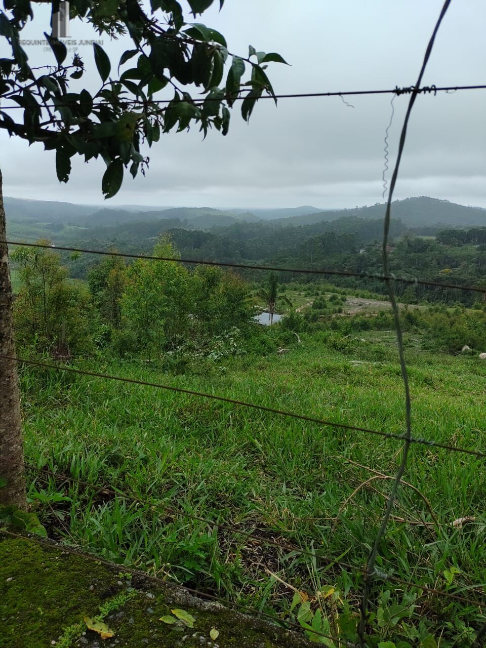
<path fill-rule="evenodd" d="M 376 203 L 376 205 L 371 207 L 323 211 L 320 213 L 306 214 L 304 216 L 279 218 L 274 222 L 283 226 L 309 225 L 323 221 L 330 222 L 345 216 L 375 220 L 376 218 L 383 218 L 384 213 L 385 205 L 383 203 Z M 427 196 L 395 200 L 392 203 L 392 216 L 393 218 L 399 218 L 405 225 L 410 227 L 486 225 L 486 209 L 481 209 L 481 207 L 466 207 L 465 205 L 457 205 L 447 200 L 438 200 L 437 198 L 428 198 Z"/>

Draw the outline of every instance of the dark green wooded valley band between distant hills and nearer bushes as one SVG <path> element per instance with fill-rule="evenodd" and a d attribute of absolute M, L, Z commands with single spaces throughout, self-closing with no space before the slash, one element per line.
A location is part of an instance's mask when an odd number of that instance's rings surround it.
<path fill-rule="evenodd" d="M 177 224 L 177 227 L 174 225 Z M 127 253 L 151 253 L 161 231 L 179 249 L 183 259 L 203 259 L 249 265 L 268 265 L 310 270 L 345 270 L 373 275 L 382 272 L 382 220 L 355 216 L 332 222 L 305 226 L 283 227 L 274 222 L 236 223 L 209 230 L 186 229 L 180 222 L 135 222 L 117 227 L 89 230 L 87 238 L 78 238 L 76 247 L 87 249 L 117 248 Z M 86 235 L 84 235 L 86 237 Z M 408 229 L 399 219 L 392 220 L 389 263 L 391 272 L 407 277 L 419 277 L 430 282 L 457 285 L 478 285 L 486 277 L 486 228 L 441 229 L 433 238 L 421 237 Z M 82 255 L 73 262 L 62 257 L 71 276 L 87 279 L 93 255 Z M 246 270 L 241 275 L 249 281 L 259 281 L 259 271 Z M 320 280 L 322 275 L 280 273 L 279 282 L 299 279 L 303 282 Z M 384 294 L 385 286 L 376 279 L 337 278 L 336 285 L 365 288 Z M 397 284 L 399 296 L 405 290 Z M 477 295 L 463 290 L 417 286 L 417 299 L 431 303 L 456 302 L 468 307 Z"/>

